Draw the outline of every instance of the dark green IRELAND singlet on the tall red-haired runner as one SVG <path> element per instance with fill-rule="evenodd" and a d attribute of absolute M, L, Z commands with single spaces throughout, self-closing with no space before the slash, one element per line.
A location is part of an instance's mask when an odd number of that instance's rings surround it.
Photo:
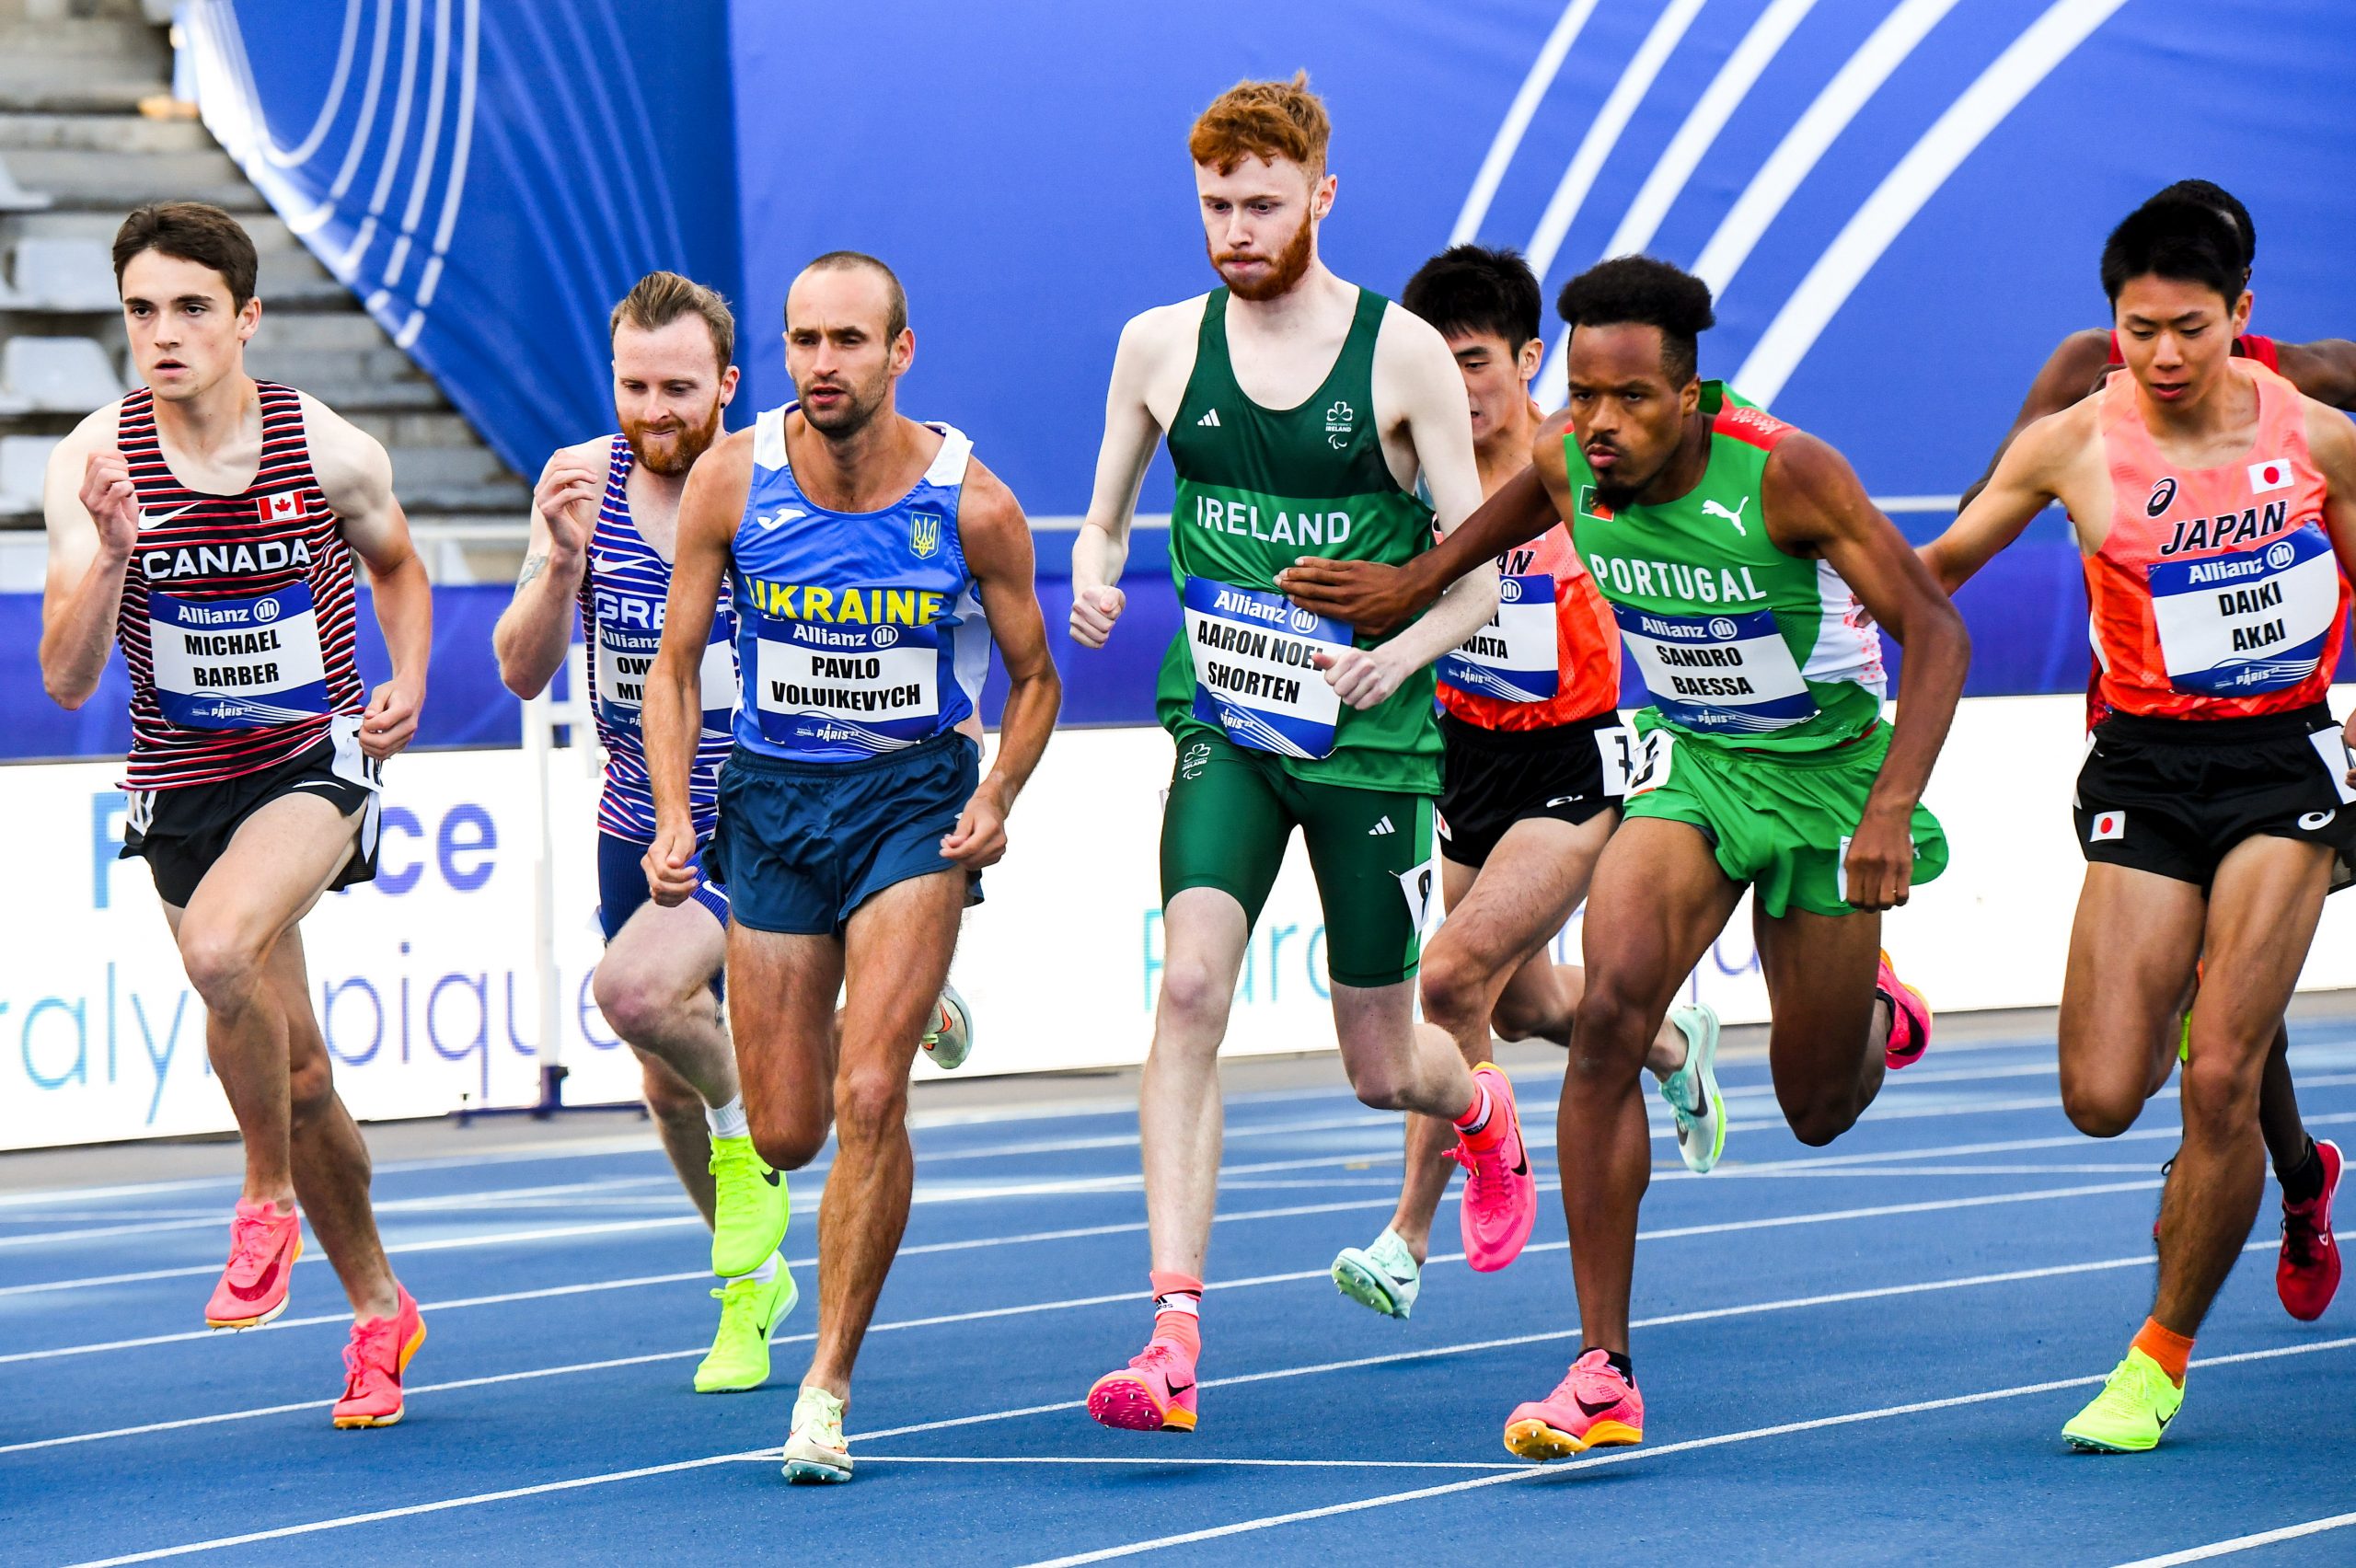
<path fill-rule="evenodd" d="M 1169 428 L 1171 579 L 1185 626 L 1162 662 L 1154 709 L 1180 744 L 1223 735 L 1303 782 L 1435 796 L 1432 671 L 1374 709 L 1350 709 L 1315 666 L 1350 645 L 1350 629 L 1277 593 L 1277 572 L 1301 556 L 1399 565 L 1430 549 L 1432 513 L 1399 490 L 1374 424 L 1374 339 L 1388 304 L 1359 290 L 1324 384 L 1270 410 L 1235 381 L 1227 290 L 1204 301 L 1194 374 Z"/>

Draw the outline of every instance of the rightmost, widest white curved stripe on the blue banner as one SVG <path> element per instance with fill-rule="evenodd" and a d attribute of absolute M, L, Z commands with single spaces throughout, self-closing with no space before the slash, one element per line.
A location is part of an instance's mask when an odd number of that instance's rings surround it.
<path fill-rule="evenodd" d="M 1939 186 L 1946 184 L 1965 158 L 2003 125 L 2021 99 L 2043 82 L 2054 66 L 2071 57 L 2094 28 L 2127 0 L 2054 0 L 2052 7 L 2029 31 L 2012 40 L 1979 78 L 1963 89 L 1944 115 L 1939 115 L 1922 139 L 1908 148 L 1906 158 L 1866 198 L 1866 205 L 1840 228 L 1833 242 L 1816 257 L 1800 287 L 1793 290 L 1783 308 L 1751 348 L 1751 358 L 1734 372 L 1734 384 L 1758 403 L 1774 405 L 1783 381 L 1800 367 L 1816 337 L 1847 304 L 1873 264 L 1882 259 L 1890 242 L 1899 238 L 1913 214 L 1922 210 Z"/>

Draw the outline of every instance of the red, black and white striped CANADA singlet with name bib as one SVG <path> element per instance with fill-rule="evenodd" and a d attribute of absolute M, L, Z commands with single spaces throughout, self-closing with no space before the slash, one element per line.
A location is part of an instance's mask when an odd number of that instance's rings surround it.
<path fill-rule="evenodd" d="M 115 443 L 139 492 L 115 636 L 132 676 L 125 789 L 276 768 L 358 727 L 351 549 L 311 471 L 302 396 L 257 381 L 262 466 L 243 494 L 181 485 L 153 393 L 123 398 Z M 346 730 L 346 732 L 349 732 Z"/>

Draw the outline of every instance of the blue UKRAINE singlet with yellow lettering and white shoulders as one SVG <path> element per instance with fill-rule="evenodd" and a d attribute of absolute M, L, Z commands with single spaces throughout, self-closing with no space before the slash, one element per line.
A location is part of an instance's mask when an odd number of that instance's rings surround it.
<path fill-rule="evenodd" d="M 957 532 L 973 443 L 940 452 L 884 511 L 827 511 L 794 483 L 785 419 L 754 426 L 752 494 L 730 546 L 735 742 L 759 756 L 855 763 L 971 718 L 990 626 Z"/>

